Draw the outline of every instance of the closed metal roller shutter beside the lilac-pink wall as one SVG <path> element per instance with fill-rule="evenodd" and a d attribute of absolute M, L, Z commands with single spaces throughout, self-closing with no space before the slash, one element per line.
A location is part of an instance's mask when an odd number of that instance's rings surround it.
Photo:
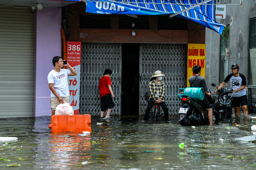
<path fill-rule="evenodd" d="M 34 15 L 0 7 L 0 118 L 33 116 Z"/>

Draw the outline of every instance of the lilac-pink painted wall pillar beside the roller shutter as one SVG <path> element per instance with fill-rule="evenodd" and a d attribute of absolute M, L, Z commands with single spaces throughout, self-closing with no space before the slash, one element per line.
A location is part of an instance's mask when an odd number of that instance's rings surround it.
<path fill-rule="evenodd" d="M 61 56 L 61 8 L 37 9 L 35 24 L 34 116 L 52 115 L 47 75 Z"/>

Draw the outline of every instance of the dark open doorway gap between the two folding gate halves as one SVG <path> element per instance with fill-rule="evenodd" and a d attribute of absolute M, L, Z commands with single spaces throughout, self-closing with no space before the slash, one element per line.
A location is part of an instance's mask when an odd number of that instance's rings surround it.
<path fill-rule="evenodd" d="M 139 115 L 140 44 L 122 44 L 121 114 Z"/>

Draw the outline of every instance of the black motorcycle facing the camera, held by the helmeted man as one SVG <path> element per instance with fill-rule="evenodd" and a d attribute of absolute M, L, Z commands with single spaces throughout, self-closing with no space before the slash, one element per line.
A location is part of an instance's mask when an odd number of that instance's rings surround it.
<path fill-rule="evenodd" d="M 235 86 L 239 86 L 239 83 L 236 82 L 234 84 Z M 211 86 L 214 86 L 217 88 L 216 84 L 212 83 Z M 230 119 L 232 117 L 232 101 L 233 101 L 233 97 L 231 94 L 233 93 L 233 86 L 231 87 L 231 89 L 229 88 L 221 88 L 217 90 L 217 101 L 218 101 L 218 105 L 217 105 L 217 112 L 219 114 L 219 119 L 220 120 L 224 120 L 224 119 Z"/>

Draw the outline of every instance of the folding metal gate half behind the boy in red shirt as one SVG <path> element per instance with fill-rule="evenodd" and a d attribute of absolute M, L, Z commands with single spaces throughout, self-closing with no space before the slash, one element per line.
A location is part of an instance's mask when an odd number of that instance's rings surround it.
<path fill-rule="evenodd" d="M 82 43 L 80 114 L 100 115 L 99 80 L 105 69 L 112 70 L 115 95 L 111 114 L 121 114 L 121 43 Z"/>

